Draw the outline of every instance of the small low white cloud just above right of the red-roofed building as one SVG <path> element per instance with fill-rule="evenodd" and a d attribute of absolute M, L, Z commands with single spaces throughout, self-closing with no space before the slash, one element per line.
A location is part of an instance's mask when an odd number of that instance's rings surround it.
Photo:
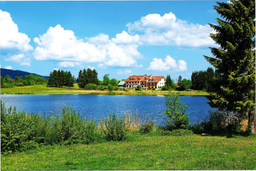
<path fill-rule="evenodd" d="M 169 71 L 169 72 L 183 72 L 187 70 L 187 63 L 184 60 L 176 60 L 169 55 L 166 56 L 164 61 L 162 59 L 153 58 L 147 70 Z"/>

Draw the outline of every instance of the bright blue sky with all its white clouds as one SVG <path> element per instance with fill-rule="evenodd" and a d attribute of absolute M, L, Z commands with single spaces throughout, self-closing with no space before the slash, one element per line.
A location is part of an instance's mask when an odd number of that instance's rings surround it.
<path fill-rule="evenodd" d="M 226 2 L 226 1 L 218 1 Z M 0 1 L 1 68 L 191 79 L 212 67 L 216 1 Z"/>

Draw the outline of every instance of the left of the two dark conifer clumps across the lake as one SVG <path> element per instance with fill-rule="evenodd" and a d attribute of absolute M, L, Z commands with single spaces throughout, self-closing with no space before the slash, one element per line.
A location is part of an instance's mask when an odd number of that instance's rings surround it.
<path fill-rule="evenodd" d="M 72 76 L 69 71 L 54 70 L 50 72 L 47 85 L 51 87 L 74 87 L 74 82 L 76 79 Z"/>

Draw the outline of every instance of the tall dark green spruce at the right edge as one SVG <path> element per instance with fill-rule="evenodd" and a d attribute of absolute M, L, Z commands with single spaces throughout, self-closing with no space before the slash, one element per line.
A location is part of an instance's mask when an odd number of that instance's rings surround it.
<path fill-rule="evenodd" d="M 255 131 L 255 0 L 217 2 L 219 25 L 209 24 L 210 37 L 220 48 L 210 48 L 215 58 L 204 56 L 217 70 L 218 78 L 208 88 L 209 105 L 247 117 Z"/>

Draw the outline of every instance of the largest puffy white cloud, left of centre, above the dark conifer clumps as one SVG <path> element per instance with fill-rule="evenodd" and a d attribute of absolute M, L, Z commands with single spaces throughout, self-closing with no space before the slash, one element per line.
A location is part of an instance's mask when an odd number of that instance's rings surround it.
<path fill-rule="evenodd" d="M 105 34 L 83 42 L 77 40 L 72 30 L 64 30 L 59 24 L 49 27 L 47 33 L 39 38 L 35 37 L 34 42 L 38 46 L 34 51 L 34 58 L 37 60 L 101 62 L 105 66 L 127 67 L 136 65 L 136 59 L 141 57 L 137 45 L 116 45 Z M 74 66 L 72 63 L 67 65 Z M 67 65 L 61 64 L 62 67 Z"/>

